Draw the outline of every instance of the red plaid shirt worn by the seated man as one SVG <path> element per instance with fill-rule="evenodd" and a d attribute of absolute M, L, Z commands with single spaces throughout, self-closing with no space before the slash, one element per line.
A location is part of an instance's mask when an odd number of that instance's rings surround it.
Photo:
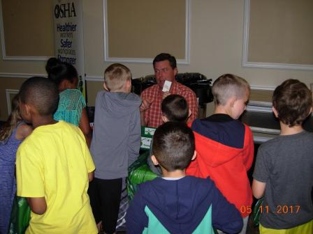
<path fill-rule="evenodd" d="M 177 81 L 174 81 L 170 86 L 170 94 L 182 95 L 187 100 L 188 107 L 191 110 L 191 116 L 188 122 L 194 121 L 198 117 L 198 101 L 196 94 L 187 86 L 184 86 Z M 152 104 L 149 109 L 145 111 L 145 123 L 148 127 L 159 127 L 163 123 L 161 118 L 161 102 L 163 98 L 163 92 L 157 84 L 146 88 L 141 93 L 142 100 L 150 100 Z"/>

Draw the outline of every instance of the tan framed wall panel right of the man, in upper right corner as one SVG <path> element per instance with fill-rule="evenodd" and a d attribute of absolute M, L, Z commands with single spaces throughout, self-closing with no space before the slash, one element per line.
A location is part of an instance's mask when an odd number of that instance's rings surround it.
<path fill-rule="evenodd" d="M 312 0 L 250 0 L 247 61 L 313 65 L 312 10 Z"/>

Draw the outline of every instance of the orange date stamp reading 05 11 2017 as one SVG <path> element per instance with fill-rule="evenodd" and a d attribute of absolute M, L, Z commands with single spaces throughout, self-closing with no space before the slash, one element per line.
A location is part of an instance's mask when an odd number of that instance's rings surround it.
<path fill-rule="evenodd" d="M 296 214 L 300 211 L 300 205 L 277 205 L 275 210 L 270 210 L 268 205 L 260 205 L 259 212 L 261 214 L 275 213 L 275 214 Z M 250 214 L 252 212 L 251 205 L 242 205 L 240 212 Z"/>

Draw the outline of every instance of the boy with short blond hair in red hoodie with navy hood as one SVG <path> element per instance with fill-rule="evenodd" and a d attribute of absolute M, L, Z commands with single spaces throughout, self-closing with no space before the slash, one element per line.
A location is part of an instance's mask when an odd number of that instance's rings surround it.
<path fill-rule="evenodd" d="M 250 87 L 245 79 L 221 75 L 212 86 L 214 114 L 191 124 L 198 157 L 187 168 L 187 175 L 210 178 L 242 214 L 246 233 L 252 205 L 252 190 L 247 177 L 254 157 L 253 135 L 238 120 L 246 109 Z"/>

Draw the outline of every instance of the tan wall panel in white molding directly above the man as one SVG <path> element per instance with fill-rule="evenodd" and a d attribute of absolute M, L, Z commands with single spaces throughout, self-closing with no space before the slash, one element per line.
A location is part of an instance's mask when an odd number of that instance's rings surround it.
<path fill-rule="evenodd" d="M 184 0 L 108 0 L 106 6 L 109 58 L 154 58 L 160 50 L 187 56 Z"/>

